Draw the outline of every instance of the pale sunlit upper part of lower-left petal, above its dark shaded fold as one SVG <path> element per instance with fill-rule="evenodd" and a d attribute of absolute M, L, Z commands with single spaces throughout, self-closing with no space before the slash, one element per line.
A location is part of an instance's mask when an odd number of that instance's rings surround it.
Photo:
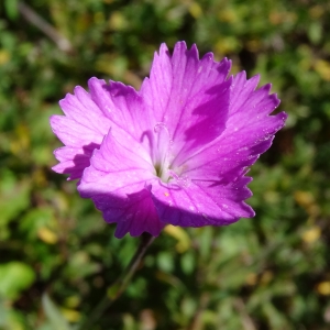
<path fill-rule="evenodd" d="M 100 148 L 95 150 L 78 190 L 84 198 L 114 191 L 125 197 L 142 190 L 154 179 L 154 167 L 143 146 L 129 134 L 113 136 L 110 131 Z"/>

